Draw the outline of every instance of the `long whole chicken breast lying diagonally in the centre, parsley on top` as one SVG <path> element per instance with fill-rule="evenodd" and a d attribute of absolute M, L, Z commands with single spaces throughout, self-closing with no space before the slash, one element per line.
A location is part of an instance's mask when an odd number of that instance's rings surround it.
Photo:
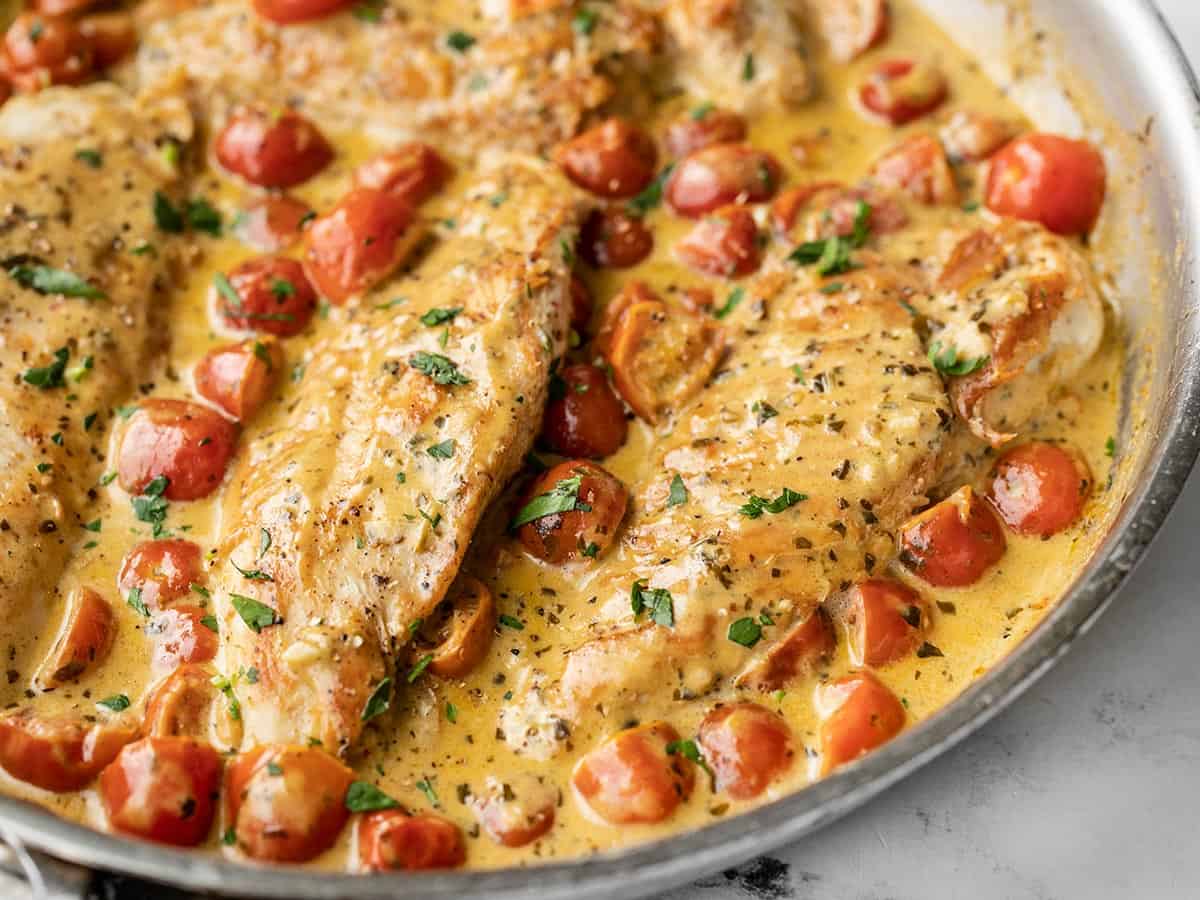
<path fill-rule="evenodd" d="M 258 673 L 238 688 L 246 746 L 359 736 L 536 432 L 581 215 L 545 164 L 498 164 L 452 236 L 316 346 L 295 402 L 244 448 L 212 594 L 221 667 Z M 450 318 L 424 324 L 432 310 Z"/>

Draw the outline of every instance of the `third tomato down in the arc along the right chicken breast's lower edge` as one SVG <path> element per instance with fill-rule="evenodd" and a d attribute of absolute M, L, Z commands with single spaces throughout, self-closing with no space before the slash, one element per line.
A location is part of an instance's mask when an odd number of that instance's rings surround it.
<path fill-rule="evenodd" d="M 886 666 L 912 653 L 929 625 L 929 607 L 895 581 L 856 584 L 846 607 L 850 659 L 856 666 Z"/>

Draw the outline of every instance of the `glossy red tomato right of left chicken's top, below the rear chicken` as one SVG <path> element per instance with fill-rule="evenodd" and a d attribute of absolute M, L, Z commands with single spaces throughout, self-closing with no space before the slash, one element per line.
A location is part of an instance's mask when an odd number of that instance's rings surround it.
<path fill-rule="evenodd" d="M 217 134 L 217 162 L 259 187 L 292 187 L 307 181 L 334 158 L 334 148 L 299 113 L 236 113 Z"/>

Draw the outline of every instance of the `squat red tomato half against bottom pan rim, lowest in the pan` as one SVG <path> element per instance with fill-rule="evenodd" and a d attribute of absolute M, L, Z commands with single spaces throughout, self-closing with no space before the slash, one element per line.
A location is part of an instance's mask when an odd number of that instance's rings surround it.
<path fill-rule="evenodd" d="M 454 869 L 464 862 L 462 829 L 442 816 L 389 809 L 359 822 L 359 865 L 365 871 Z"/>

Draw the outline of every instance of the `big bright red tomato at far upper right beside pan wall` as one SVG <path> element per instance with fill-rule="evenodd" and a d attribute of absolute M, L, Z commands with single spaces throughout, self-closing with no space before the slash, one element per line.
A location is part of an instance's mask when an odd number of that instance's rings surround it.
<path fill-rule="evenodd" d="M 1040 222 L 1057 234 L 1087 234 L 1104 205 L 1104 157 L 1086 140 L 1026 134 L 991 160 L 988 209 Z"/>

